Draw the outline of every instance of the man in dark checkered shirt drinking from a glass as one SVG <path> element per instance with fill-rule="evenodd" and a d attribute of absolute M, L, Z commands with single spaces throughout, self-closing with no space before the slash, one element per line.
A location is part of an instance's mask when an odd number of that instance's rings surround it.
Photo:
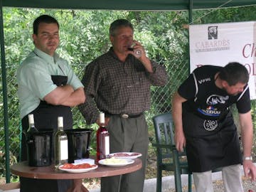
<path fill-rule="evenodd" d="M 141 43 L 133 39 L 132 24 L 118 19 L 110 25 L 110 50 L 85 69 L 82 83 L 87 100 L 79 106 L 88 124 L 99 124 L 105 112 L 110 133 L 110 153 L 139 152 L 142 169 L 122 176 L 101 179 L 101 192 L 142 192 L 149 145 L 144 111 L 150 107 L 150 86 L 164 86 L 166 70 L 146 57 Z M 120 189 L 119 189 L 120 187 Z"/>

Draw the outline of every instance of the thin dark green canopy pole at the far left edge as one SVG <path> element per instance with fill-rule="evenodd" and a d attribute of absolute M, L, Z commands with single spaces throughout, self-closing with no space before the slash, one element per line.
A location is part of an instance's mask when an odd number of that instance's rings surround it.
<path fill-rule="evenodd" d="M 9 152 L 9 127 L 8 127 L 8 105 L 7 105 L 7 85 L 6 85 L 6 63 L 4 50 L 4 16 L 3 0 L 0 0 L 0 41 L 1 41 L 1 75 L 3 85 L 3 102 L 4 102 L 4 149 L 6 164 L 6 183 L 10 183 L 10 152 Z"/>

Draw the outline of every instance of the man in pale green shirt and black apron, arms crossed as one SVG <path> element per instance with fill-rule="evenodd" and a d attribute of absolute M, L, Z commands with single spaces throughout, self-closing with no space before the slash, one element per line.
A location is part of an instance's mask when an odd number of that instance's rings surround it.
<path fill-rule="evenodd" d="M 64 129 L 73 128 L 70 107 L 85 102 L 83 85 L 66 60 L 55 53 L 59 44 L 59 25 L 55 18 L 39 16 L 33 23 L 35 49 L 18 68 L 18 97 L 23 132 L 28 129 L 28 114 L 33 114 L 37 129 L 58 127 L 63 117 Z M 68 149 L 67 149 L 68 150 Z M 23 134 L 21 161 L 27 160 L 26 137 Z M 68 191 L 70 180 L 20 178 L 21 192 Z"/>

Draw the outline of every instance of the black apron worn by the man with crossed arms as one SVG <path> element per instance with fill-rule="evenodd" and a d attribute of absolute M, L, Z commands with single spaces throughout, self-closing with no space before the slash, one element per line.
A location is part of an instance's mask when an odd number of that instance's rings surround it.
<path fill-rule="evenodd" d="M 57 86 L 66 85 L 67 76 L 52 75 L 53 83 Z M 41 101 L 36 110 L 30 112 L 33 114 L 35 127 L 37 129 L 53 129 L 58 128 L 58 117 L 63 117 L 64 129 L 73 129 L 73 117 L 70 107 L 63 105 L 50 105 L 45 101 Z M 23 132 L 28 129 L 28 114 L 21 120 Z M 54 141 L 54 139 L 53 139 Z M 54 148 L 53 148 L 54 149 Z M 68 149 L 67 149 L 68 150 Z M 52 153 L 54 154 L 54 153 Z M 27 160 L 26 137 L 22 135 L 21 140 L 21 161 Z M 20 178 L 21 192 L 64 192 L 72 185 L 72 180 L 52 180 L 52 179 L 33 179 Z"/>

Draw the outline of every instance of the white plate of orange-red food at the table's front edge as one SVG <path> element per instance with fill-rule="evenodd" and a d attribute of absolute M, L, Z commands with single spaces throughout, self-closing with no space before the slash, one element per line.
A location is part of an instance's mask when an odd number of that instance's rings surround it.
<path fill-rule="evenodd" d="M 97 169 L 95 164 L 63 164 L 58 167 L 62 171 L 68 171 L 69 173 L 85 173 L 93 169 Z"/>

